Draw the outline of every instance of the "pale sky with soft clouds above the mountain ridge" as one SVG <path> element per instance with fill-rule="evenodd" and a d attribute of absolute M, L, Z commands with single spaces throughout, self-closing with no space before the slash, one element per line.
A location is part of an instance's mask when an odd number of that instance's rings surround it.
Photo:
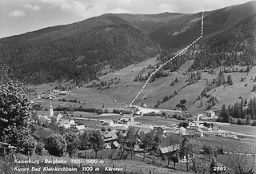
<path fill-rule="evenodd" d="M 0 0 L 0 38 L 102 14 L 192 14 L 250 0 Z"/>

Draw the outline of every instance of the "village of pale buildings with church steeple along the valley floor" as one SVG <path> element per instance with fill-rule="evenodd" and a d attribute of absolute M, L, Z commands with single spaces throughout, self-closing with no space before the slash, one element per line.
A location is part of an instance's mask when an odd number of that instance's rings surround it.
<path fill-rule="evenodd" d="M 68 129 L 72 132 L 77 132 L 78 134 L 82 134 L 88 130 L 97 130 L 95 128 L 90 128 L 90 126 L 86 126 L 81 124 L 81 120 L 83 121 L 95 121 L 98 125 L 98 130 L 102 132 L 102 137 L 104 138 L 104 148 L 111 148 L 111 149 L 118 149 L 121 148 L 121 145 L 118 143 L 118 134 L 122 133 L 123 136 L 126 136 L 126 132 L 129 129 L 134 129 L 136 134 L 140 135 L 143 133 L 149 133 L 154 131 L 155 134 L 161 136 L 163 139 L 170 134 L 178 134 L 181 136 L 188 136 L 188 137 L 203 137 L 203 136 L 220 136 L 223 138 L 229 139 L 238 139 L 238 137 L 242 137 L 241 133 L 233 132 L 233 131 L 226 131 L 220 129 L 221 126 L 216 125 L 226 125 L 224 123 L 217 123 L 214 122 L 218 118 L 215 116 L 214 111 L 208 110 L 204 113 L 198 114 L 197 117 L 194 117 L 194 121 L 183 121 L 180 124 L 172 124 L 170 126 L 166 125 L 151 125 L 151 124 L 144 124 L 141 121 L 136 121 L 138 117 L 143 117 L 143 113 L 146 114 L 147 112 L 152 112 L 153 109 L 146 109 L 144 107 L 133 106 L 136 108 L 136 112 L 132 114 L 122 114 L 120 119 L 94 119 L 94 118 L 85 118 L 85 117 L 71 117 L 70 113 L 63 114 L 59 112 L 54 112 L 53 106 L 50 103 L 49 106 L 49 115 L 40 115 L 38 114 L 38 119 L 42 123 L 54 123 L 54 125 L 58 125 L 59 127 L 63 127 Z M 155 112 L 162 112 L 160 109 L 155 110 Z M 114 113 L 103 113 L 102 117 L 114 115 Z M 215 128 L 218 129 L 215 129 Z M 134 151 L 135 152 L 142 152 L 143 148 L 145 148 L 142 140 L 137 140 L 137 143 L 134 144 Z M 165 155 L 169 152 L 174 152 L 178 149 L 177 146 L 175 148 L 174 144 L 166 145 L 160 144 L 159 151 L 162 155 Z M 180 159 L 184 163 L 186 163 L 186 156 L 185 159 Z"/>

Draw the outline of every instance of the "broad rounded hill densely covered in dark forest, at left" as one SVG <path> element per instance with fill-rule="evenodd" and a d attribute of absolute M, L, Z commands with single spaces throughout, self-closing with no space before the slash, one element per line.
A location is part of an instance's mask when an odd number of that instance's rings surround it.
<path fill-rule="evenodd" d="M 157 53 L 146 34 L 113 15 L 3 38 L 0 45 L 14 74 L 33 84 L 91 81 L 104 65 L 122 69 Z"/>

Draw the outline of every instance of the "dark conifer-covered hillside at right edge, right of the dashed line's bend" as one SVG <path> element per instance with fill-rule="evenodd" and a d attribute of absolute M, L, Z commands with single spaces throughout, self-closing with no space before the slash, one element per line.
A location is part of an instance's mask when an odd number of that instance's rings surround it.
<path fill-rule="evenodd" d="M 256 15 L 237 25 L 203 39 L 201 52 L 191 69 L 213 68 L 221 65 L 254 65 L 256 61 Z"/>

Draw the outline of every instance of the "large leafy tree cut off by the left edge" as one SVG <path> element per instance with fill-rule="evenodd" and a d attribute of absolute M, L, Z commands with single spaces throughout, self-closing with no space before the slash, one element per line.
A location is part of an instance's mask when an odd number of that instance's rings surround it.
<path fill-rule="evenodd" d="M 21 152 L 33 152 L 30 100 L 10 69 L 0 65 L 0 141 L 12 144 Z"/>

